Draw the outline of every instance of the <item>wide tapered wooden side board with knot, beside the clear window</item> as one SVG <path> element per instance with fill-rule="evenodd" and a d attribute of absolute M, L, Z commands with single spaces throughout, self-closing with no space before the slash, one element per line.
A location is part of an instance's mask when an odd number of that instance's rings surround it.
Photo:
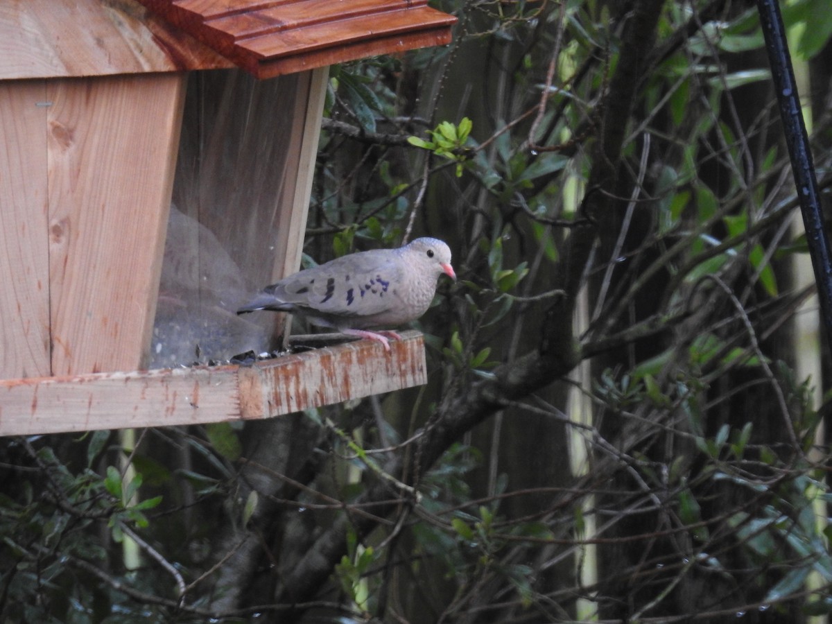
<path fill-rule="evenodd" d="M 181 74 L 49 83 L 52 374 L 144 364 L 183 97 Z"/>

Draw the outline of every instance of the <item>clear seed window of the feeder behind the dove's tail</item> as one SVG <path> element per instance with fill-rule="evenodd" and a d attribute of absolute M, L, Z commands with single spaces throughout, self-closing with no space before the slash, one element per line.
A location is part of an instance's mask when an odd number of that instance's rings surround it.
<path fill-rule="evenodd" d="M 273 346 L 278 315 L 235 310 L 282 265 L 310 73 L 265 82 L 236 69 L 191 74 L 151 368 Z"/>

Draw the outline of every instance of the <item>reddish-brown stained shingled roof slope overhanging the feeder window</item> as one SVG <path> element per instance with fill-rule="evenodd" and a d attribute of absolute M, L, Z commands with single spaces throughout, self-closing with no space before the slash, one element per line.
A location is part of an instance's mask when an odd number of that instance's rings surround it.
<path fill-rule="evenodd" d="M 426 0 L 140 0 L 256 77 L 450 42 Z"/>

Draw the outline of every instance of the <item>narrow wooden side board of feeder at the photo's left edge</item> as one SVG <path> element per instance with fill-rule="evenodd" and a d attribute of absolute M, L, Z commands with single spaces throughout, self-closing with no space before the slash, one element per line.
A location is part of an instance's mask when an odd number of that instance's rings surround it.
<path fill-rule="evenodd" d="M 0 379 L 51 374 L 46 91 L 0 82 Z"/>

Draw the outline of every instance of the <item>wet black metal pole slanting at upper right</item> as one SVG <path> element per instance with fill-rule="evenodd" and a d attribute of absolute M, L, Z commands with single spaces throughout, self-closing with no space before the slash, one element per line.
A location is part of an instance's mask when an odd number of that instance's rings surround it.
<path fill-rule="evenodd" d="M 832 253 L 824 229 L 823 214 L 820 211 L 815 163 L 812 161 L 809 137 L 806 135 L 800 100 L 797 97 L 795 71 L 791 66 L 783 17 L 780 15 L 777 0 L 758 0 L 757 9 L 760 12 L 760 23 L 765 37 L 765 49 L 769 53 L 771 78 L 775 83 L 777 103 L 780 105 L 780 119 L 783 121 L 785 142 L 789 148 L 800 212 L 803 213 L 806 242 L 809 245 L 812 268 L 815 270 L 820 315 L 826 329 L 826 341 L 832 347 Z"/>

